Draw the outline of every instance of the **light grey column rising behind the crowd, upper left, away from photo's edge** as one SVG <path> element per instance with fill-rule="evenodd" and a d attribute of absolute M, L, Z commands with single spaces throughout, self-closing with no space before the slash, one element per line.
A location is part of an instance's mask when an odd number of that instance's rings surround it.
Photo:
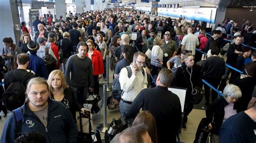
<path fill-rule="evenodd" d="M 55 1 L 56 18 L 63 16 L 63 20 L 66 20 L 66 3 L 65 0 Z"/>

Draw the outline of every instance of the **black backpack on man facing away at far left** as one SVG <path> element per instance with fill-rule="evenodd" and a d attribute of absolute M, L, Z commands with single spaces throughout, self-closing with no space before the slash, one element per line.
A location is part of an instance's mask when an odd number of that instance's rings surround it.
<path fill-rule="evenodd" d="M 12 72 L 8 73 L 8 77 L 11 81 L 9 87 L 5 90 L 3 94 L 3 99 L 5 106 L 8 110 L 12 111 L 14 109 L 19 108 L 25 102 L 25 80 L 28 78 L 32 73 L 25 74 L 21 79 L 23 81 L 14 80 L 14 76 L 12 76 Z"/>

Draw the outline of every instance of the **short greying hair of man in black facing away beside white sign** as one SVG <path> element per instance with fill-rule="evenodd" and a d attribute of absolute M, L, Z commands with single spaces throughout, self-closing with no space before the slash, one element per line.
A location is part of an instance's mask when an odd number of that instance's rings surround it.
<path fill-rule="evenodd" d="M 159 71 L 158 77 L 160 79 L 160 83 L 164 84 L 166 87 L 168 87 L 173 80 L 173 74 L 170 69 L 163 68 Z"/>

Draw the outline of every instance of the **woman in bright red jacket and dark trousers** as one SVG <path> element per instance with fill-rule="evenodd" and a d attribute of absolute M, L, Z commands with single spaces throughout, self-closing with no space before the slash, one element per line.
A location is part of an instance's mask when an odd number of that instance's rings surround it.
<path fill-rule="evenodd" d="M 93 41 L 91 39 L 86 41 L 88 52 L 86 56 L 88 56 L 92 60 L 93 67 L 93 78 L 94 78 L 94 92 L 95 94 L 99 94 L 99 78 L 102 77 L 104 73 L 103 60 L 100 52 L 95 49 Z"/>

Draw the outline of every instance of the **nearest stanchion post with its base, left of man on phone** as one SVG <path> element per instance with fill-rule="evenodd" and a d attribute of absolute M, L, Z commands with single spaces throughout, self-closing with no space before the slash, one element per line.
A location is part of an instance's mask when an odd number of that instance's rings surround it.
<path fill-rule="evenodd" d="M 105 132 L 106 130 L 107 130 L 107 126 L 109 126 L 108 124 L 107 124 L 107 85 L 106 84 L 103 84 L 103 110 L 104 110 L 104 115 L 103 115 L 103 123 L 102 124 L 99 124 L 98 125 L 98 130 L 100 131 L 100 132 Z"/>

